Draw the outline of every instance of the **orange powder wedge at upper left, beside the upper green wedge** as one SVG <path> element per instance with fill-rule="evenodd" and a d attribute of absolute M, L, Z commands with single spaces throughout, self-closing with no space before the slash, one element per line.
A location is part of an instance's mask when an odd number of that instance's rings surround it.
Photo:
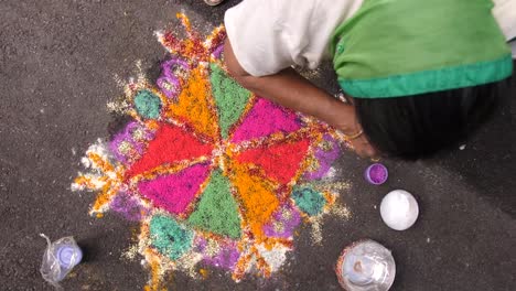
<path fill-rule="evenodd" d="M 197 133 L 212 139 L 218 137 L 216 115 L 207 69 L 197 66 L 192 71 L 178 101 L 169 106 L 166 116 L 191 126 Z"/>

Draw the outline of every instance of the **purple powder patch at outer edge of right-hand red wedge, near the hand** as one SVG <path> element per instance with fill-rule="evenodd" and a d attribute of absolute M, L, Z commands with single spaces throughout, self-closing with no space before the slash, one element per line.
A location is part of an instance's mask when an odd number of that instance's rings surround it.
<path fill-rule="evenodd" d="M 323 144 L 320 146 L 314 153 L 319 162 L 319 168 L 314 172 L 307 172 L 304 179 L 309 181 L 322 179 L 332 166 L 332 163 L 338 158 L 340 153 L 338 142 L 332 136 L 324 134 Z"/>

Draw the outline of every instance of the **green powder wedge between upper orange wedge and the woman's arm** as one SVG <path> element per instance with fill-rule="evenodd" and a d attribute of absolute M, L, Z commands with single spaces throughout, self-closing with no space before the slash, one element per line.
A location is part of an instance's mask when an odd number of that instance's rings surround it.
<path fill-rule="evenodd" d="M 250 91 L 240 87 L 233 78 L 215 64 L 211 64 L 212 91 L 218 108 L 221 133 L 227 138 L 229 128 L 240 117 L 250 97 Z"/>

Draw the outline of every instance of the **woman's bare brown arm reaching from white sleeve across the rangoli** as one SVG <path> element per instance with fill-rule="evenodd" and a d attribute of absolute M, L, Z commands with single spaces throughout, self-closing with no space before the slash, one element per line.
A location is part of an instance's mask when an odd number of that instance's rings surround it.
<path fill-rule="evenodd" d="M 344 104 L 318 88 L 294 69 L 286 68 L 270 76 L 254 77 L 236 60 L 228 39 L 224 46 L 224 58 L 232 76 L 257 95 L 292 110 L 313 116 L 346 134 L 353 136 L 359 132 L 361 126 L 352 105 Z M 364 136 L 353 140 L 352 144 L 362 157 L 375 154 L 375 150 Z"/>

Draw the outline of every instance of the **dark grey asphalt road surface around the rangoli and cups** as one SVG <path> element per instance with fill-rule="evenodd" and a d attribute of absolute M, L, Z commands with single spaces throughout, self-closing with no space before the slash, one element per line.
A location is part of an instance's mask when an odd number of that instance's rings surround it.
<path fill-rule="evenodd" d="M 117 127 L 106 110 L 121 94 L 114 76 L 133 76 L 138 60 L 150 76 L 159 73 L 166 54 L 153 31 L 176 25 L 178 11 L 208 31 L 236 2 L 0 1 L 0 290 L 52 290 L 39 272 L 40 233 L 73 235 L 85 250 L 65 290 L 142 290 L 148 272 L 138 259 L 121 258 L 138 225 L 109 214 L 89 217 L 94 195 L 69 185 L 87 147 Z M 314 78 L 335 89 L 330 71 Z M 393 290 L 516 290 L 515 82 L 512 87 L 508 104 L 464 150 L 424 162 L 386 160 L 390 180 L 381 186 L 362 176 L 369 161 L 345 152 L 336 168 L 337 179 L 352 184 L 342 195 L 352 218 L 326 218 L 319 247 L 301 228 L 295 251 L 271 279 L 234 283 L 216 270 L 205 280 L 176 273 L 170 290 L 338 290 L 333 266 L 361 238 L 393 250 Z M 395 188 L 420 204 L 406 231 L 389 229 L 379 216 L 383 195 Z"/>

